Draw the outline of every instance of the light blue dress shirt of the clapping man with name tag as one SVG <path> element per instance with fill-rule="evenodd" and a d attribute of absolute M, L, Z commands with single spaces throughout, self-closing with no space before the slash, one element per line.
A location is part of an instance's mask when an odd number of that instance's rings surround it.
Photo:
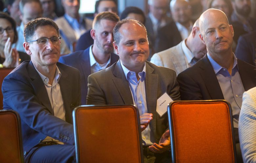
<path fill-rule="evenodd" d="M 147 101 L 146 101 L 146 91 L 145 91 L 145 78 L 146 78 L 146 63 L 144 64 L 142 72 L 139 72 L 139 81 L 137 80 L 136 73 L 128 70 L 122 62 L 121 66 L 123 68 L 125 77 L 129 82 L 129 87 L 132 93 L 133 104 L 139 109 L 139 115 L 148 112 Z M 144 146 L 150 146 L 153 143 L 150 141 L 150 127 L 149 125 L 145 130 L 141 132 L 142 144 Z"/>

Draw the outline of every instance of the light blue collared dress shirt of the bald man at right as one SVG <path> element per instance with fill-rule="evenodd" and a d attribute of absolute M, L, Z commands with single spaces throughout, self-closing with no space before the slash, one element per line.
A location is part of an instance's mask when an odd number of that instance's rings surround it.
<path fill-rule="evenodd" d="M 243 93 L 245 92 L 245 88 L 243 86 L 240 74 L 238 72 L 239 69 L 236 57 L 234 54 L 233 56 L 234 64 L 230 76 L 228 70 L 220 66 L 217 62 L 215 62 L 207 53 L 207 57 L 219 81 L 224 99 L 227 100 L 232 107 L 234 127 L 238 128 L 239 113 L 242 106 L 242 98 Z"/>

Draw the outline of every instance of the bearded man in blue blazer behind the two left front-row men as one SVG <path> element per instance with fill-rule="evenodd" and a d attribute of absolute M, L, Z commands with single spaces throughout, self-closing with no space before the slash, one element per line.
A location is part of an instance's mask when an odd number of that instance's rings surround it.
<path fill-rule="evenodd" d="M 59 62 L 75 67 L 81 75 L 81 102 L 86 104 L 87 78 L 90 74 L 109 67 L 117 62 L 119 57 L 113 53 L 113 28 L 119 17 L 112 12 L 101 12 L 94 18 L 91 36 L 94 44 L 85 50 L 62 56 Z"/>

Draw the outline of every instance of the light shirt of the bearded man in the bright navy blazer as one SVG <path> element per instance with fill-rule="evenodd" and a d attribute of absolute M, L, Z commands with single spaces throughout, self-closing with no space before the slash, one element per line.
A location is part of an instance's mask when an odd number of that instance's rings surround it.
<path fill-rule="evenodd" d="M 93 50 L 92 50 L 93 45 L 90 46 L 89 49 L 89 57 L 90 57 L 90 65 L 91 65 L 91 74 L 98 72 L 104 68 L 107 68 L 110 65 L 110 59 L 111 59 L 111 55 L 109 56 L 109 59 L 106 63 L 100 64 L 97 63 L 97 61 L 94 58 L 93 55 Z"/>

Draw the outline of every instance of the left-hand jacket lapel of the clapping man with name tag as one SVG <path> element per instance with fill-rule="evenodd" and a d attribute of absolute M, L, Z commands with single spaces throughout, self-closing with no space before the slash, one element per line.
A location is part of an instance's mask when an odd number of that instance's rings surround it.
<path fill-rule="evenodd" d="M 117 87 L 117 90 L 124 102 L 124 104 L 133 104 L 132 93 L 129 87 L 129 83 L 124 75 L 120 60 L 117 62 L 113 74 L 116 76 L 113 78 L 113 82 Z"/>

